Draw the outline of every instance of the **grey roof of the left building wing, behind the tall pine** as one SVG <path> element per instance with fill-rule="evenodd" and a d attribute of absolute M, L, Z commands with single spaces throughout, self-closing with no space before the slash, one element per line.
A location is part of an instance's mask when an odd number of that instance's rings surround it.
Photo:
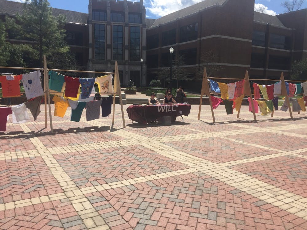
<path fill-rule="evenodd" d="M 23 3 L 21 2 L 0 0 L 0 14 L 9 14 L 9 15 L 16 15 L 17 13 L 22 14 L 22 10 L 23 10 Z M 59 14 L 65 15 L 67 22 L 87 24 L 87 17 L 88 17 L 87 13 L 80 13 L 71 10 L 52 8 L 52 14 L 54 16 L 58 16 Z"/>

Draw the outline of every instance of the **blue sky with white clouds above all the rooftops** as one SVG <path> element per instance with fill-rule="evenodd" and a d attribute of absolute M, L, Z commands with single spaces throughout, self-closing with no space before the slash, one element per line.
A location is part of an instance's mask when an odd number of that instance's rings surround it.
<path fill-rule="evenodd" d="M 25 0 L 11 0 L 15 2 L 25 2 Z M 139 0 L 128 0 L 139 2 Z M 147 18 L 159 18 L 166 14 L 181 10 L 203 0 L 144 0 Z M 280 5 L 285 0 L 255 0 L 255 10 L 264 9 L 265 13 L 277 15 L 284 13 L 285 9 Z M 88 13 L 88 0 L 49 0 L 51 7 L 64 10 Z M 304 0 L 301 9 L 307 8 L 307 0 Z"/>

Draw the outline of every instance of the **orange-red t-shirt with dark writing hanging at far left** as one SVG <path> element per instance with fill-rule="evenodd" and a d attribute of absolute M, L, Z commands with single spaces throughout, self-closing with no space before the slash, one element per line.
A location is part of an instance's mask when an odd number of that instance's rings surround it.
<path fill-rule="evenodd" d="M 7 80 L 12 79 L 13 80 Z M 13 98 L 20 97 L 20 80 L 22 79 L 22 75 L 10 76 L 0 76 L 0 82 L 2 83 L 2 98 Z"/>

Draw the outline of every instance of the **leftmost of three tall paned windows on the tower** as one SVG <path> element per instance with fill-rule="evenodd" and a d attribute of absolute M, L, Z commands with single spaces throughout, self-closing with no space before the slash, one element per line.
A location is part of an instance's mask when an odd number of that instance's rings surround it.
<path fill-rule="evenodd" d="M 94 25 L 95 59 L 106 59 L 106 29 L 103 24 Z"/>

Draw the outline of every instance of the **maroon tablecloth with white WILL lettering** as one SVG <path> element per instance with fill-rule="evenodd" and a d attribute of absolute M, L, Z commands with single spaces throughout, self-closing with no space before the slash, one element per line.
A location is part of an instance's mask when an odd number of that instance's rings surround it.
<path fill-rule="evenodd" d="M 176 117 L 188 116 L 191 105 L 130 105 L 127 108 L 128 117 L 132 121 L 146 124 L 150 121 L 156 121 L 160 117 L 170 116 L 173 120 Z"/>

